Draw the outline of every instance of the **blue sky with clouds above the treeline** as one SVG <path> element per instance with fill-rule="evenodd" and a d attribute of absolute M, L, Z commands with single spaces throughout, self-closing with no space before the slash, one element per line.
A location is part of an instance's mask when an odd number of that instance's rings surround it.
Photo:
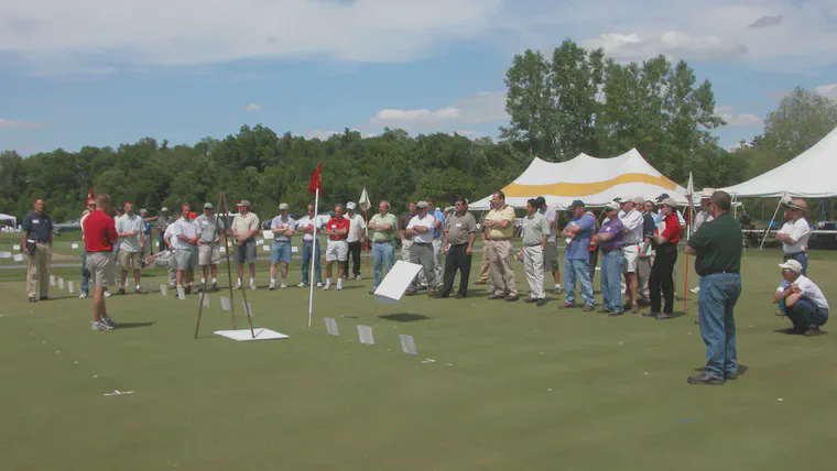
<path fill-rule="evenodd" d="M 837 0 L 32 0 L 0 18 L 0 149 L 222 138 L 241 124 L 496 136 L 503 73 L 569 37 L 713 81 L 722 145 L 800 85 L 837 98 Z M 128 6 L 126 6 L 128 4 Z"/>

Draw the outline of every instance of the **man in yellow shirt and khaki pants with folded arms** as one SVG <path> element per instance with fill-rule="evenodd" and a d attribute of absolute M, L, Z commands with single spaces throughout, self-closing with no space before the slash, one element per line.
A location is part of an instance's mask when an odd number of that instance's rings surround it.
<path fill-rule="evenodd" d="M 514 270 L 511 266 L 511 237 L 514 232 L 514 209 L 506 205 L 506 195 L 497 191 L 492 197 L 493 208 L 486 215 L 482 230 L 486 232 L 488 253 L 491 265 L 491 284 L 494 292 L 489 299 L 518 300 L 514 286 Z"/>

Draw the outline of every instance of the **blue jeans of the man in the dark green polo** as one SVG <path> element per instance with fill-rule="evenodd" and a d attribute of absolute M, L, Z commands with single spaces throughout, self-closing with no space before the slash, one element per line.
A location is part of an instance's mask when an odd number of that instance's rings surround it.
<path fill-rule="evenodd" d="M 741 275 L 716 273 L 700 278 L 698 316 L 706 343 L 706 374 L 735 377 L 738 374 L 733 308 L 741 294 Z"/>

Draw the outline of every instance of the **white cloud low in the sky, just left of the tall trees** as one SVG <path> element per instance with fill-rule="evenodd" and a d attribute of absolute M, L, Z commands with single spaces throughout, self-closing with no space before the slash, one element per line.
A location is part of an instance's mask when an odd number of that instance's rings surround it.
<path fill-rule="evenodd" d="M 372 128 L 401 128 L 409 132 L 454 131 L 463 124 L 481 124 L 508 120 L 506 92 L 481 91 L 454 100 L 448 107 L 428 109 L 384 109 L 369 120 Z"/>

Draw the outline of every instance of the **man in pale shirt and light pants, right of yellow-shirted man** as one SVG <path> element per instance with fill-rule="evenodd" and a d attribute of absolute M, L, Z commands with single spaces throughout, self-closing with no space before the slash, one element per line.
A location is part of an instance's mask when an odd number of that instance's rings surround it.
<path fill-rule="evenodd" d="M 550 237 L 550 222 L 546 216 L 537 211 L 537 199 L 526 201 L 526 217 L 523 218 L 523 245 L 520 256 L 523 259 L 523 273 L 529 282 L 530 296 L 524 303 L 546 304 L 546 293 L 543 288 L 544 266 L 543 252 Z"/>

